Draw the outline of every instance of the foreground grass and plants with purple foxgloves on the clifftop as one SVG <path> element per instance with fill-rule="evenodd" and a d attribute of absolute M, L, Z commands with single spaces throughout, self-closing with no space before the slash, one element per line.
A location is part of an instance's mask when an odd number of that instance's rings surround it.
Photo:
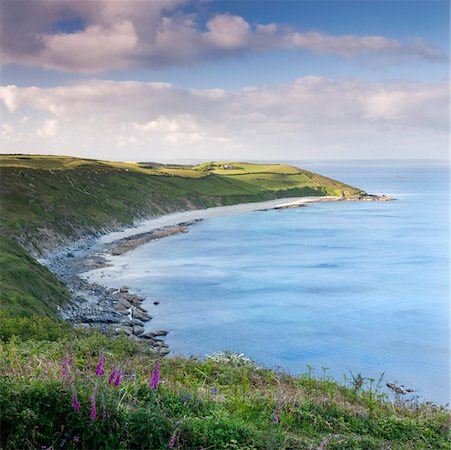
<path fill-rule="evenodd" d="M 141 343 L 26 321 L 0 325 L 5 449 L 449 448 L 447 411 L 374 386 L 177 357 L 158 379 Z"/>

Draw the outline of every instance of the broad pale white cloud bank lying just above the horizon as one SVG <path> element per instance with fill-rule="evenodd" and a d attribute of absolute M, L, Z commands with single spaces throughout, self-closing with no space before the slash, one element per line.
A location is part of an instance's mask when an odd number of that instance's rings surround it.
<path fill-rule="evenodd" d="M 446 157 L 448 148 L 447 84 L 303 77 L 225 91 L 91 80 L 4 92 L 8 122 L 16 126 L 22 110 L 29 117 L 20 141 L 4 150 L 11 152 L 299 159 Z"/>

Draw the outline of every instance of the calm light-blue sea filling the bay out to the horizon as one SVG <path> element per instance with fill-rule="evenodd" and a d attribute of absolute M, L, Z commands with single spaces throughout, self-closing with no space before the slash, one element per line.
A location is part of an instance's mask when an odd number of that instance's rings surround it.
<path fill-rule="evenodd" d="M 393 202 L 317 203 L 204 220 L 102 270 L 158 306 L 172 354 L 243 352 L 291 373 L 362 373 L 449 399 L 448 170 L 298 163 Z M 384 383 L 385 384 L 385 383 Z"/>

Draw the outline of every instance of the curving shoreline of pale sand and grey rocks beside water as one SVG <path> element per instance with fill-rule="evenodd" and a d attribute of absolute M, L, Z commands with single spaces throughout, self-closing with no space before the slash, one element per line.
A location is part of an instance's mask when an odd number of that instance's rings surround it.
<path fill-rule="evenodd" d="M 146 340 L 160 355 L 169 353 L 168 345 L 161 339 L 167 330 L 145 332 L 144 325 L 152 320 L 143 308 L 144 300 L 158 305 L 156 299 L 145 299 L 127 286 L 111 288 L 89 281 L 89 272 L 113 264 L 115 257 L 133 251 L 141 245 L 179 233 L 187 233 L 191 226 L 209 218 L 230 214 L 305 207 L 309 203 L 336 201 L 392 200 L 385 196 L 342 198 L 332 196 L 282 198 L 257 203 L 243 203 L 207 209 L 196 209 L 144 219 L 119 231 L 96 234 L 58 248 L 41 260 L 47 268 L 63 281 L 71 293 L 71 300 L 59 309 L 62 319 L 75 327 L 96 328 L 118 335 L 125 333 L 130 339 Z"/>

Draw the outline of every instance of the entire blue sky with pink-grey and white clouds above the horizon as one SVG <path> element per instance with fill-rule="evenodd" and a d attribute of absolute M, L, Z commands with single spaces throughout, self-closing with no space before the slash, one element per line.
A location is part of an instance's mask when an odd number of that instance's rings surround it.
<path fill-rule="evenodd" d="M 3 153 L 447 158 L 448 1 L 2 0 Z"/>

